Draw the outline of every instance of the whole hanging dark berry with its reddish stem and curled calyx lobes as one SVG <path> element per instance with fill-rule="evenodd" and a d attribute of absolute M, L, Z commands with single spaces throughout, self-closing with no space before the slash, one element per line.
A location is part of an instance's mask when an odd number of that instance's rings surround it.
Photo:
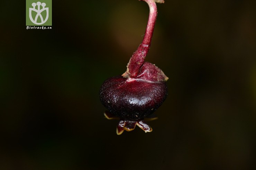
<path fill-rule="evenodd" d="M 127 71 L 107 79 L 100 88 L 101 103 L 108 109 L 104 115 L 108 119 L 119 118 L 117 134 L 130 131 L 139 126 L 145 132 L 152 131 L 144 118 L 154 119 L 153 112 L 164 102 L 167 96 L 163 71 L 144 59 L 149 51 L 154 31 L 157 8 L 156 3 L 163 0 L 143 0 L 148 3 L 150 12 L 143 42 L 131 56 Z"/>

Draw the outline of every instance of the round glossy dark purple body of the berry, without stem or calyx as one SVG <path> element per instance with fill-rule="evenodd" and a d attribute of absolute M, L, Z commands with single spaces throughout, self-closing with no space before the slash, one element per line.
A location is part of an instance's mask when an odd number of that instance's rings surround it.
<path fill-rule="evenodd" d="M 122 76 L 107 79 L 100 89 L 101 102 L 110 113 L 121 119 L 136 121 L 152 114 L 166 96 L 167 85 L 164 81 L 148 82 Z"/>

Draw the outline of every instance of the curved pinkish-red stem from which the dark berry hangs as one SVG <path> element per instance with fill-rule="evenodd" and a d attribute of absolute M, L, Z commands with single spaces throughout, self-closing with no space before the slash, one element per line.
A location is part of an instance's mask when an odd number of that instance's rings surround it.
<path fill-rule="evenodd" d="M 135 77 L 141 65 L 144 63 L 145 57 L 149 51 L 154 27 L 156 23 L 156 17 L 157 17 L 157 7 L 156 2 L 158 3 L 164 3 L 163 0 L 142 0 L 147 2 L 149 6 L 149 17 L 148 17 L 148 23 L 145 31 L 145 35 L 143 38 L 142 43 L 139 45 L 138 49 L 132 54 L 130 61 L 127 65 L 127 70 L 124 74 L 122 74 L 123 77 L 129 78 L 129 77 Z"/>

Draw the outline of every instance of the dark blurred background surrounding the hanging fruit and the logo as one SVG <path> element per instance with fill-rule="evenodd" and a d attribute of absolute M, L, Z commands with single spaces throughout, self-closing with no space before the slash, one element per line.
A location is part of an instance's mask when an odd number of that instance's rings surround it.
<path fill-rule="evenodd" d="M 137 0 L 54 1 L 52 30 L 1 3 L 1 170 L 256 169 L 256 1 L 158 4 L 146 61 L 169 77 L 149 122 L 116 135 L 99 88 L 145 31 Z"/>

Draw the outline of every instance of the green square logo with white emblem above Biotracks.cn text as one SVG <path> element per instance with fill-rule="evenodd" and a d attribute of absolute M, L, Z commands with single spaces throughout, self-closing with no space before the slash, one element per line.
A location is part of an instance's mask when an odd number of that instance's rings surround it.
<path fill-rule="evenodd" d="M 33 8 L 33 6 L 31 5 L 33 2 L 37 3 L 38 0 L 26 0 L 26 25 L 27 26 L 37 25 L 37 24 L 34 24 L 33 22 L 31 22 L 29 19 L 29 8 Z M 44 24 L 41 24 L 41 25 L 51 26 L 52 25 L 52 0 L 42 0 L 39 2 L 46 3 L 45 8 L 49 8 L 49 18 Z M 35 8 L 37 9 L 37 6 Z M 40 9 L 42 9 L 42 8 L 43 7 L 40 6 Z M 31 15 L 32 15 L 33 19 L 35 19 L 36 14 L 37 13 L 35 11 L 32 11 Z M 41 12 L 41 14 L 43 16 L 43 19 L 45 19 L 46 18 L 46 10 Z M 40 17 L 38 17 L 37 23 L 40 23 L 40 22 L 41 22 L 41 19 L 40 19 Z M 41 26 L 41 25 L 37 25 L 37 26 Z"/>

